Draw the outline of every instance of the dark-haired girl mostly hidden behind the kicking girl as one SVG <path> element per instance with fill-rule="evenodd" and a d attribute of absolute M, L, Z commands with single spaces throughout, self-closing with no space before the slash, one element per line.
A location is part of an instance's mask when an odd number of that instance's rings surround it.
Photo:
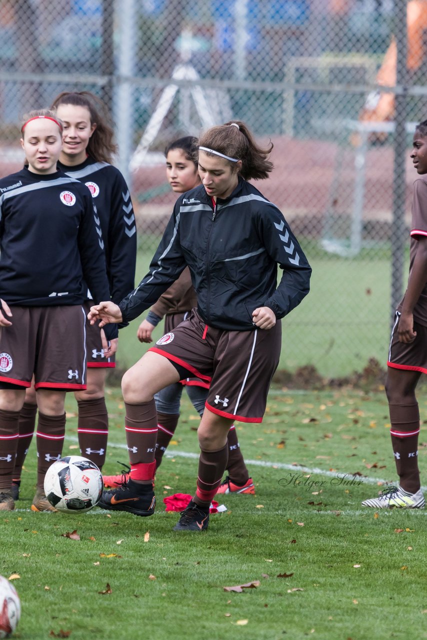
<path fill-rule="evenodd" d="M 166 177 L 173 191 L 177 194 L 185 193 L 200 184 L 197 161 L 193 157 L 197 138 L 186 136 L 171 142 L 165 149 Z M 147 318 L 138 327 L 138 340 L 140 342 L 152 342 L 151 334 L 154 328 L 165 316 L 165 333 L 169 333 L 178 326 L 191 313 L 191 309 L 197 306 L 197 298 L 188 267 L 182 271 L 178 280 L 169 287 L 153 305 Z M 178 425 L 179 410 L 181 404 L 182 389 L 186 388 L 188 397 L 193 403 L 198 415 L 202 417 L 205 409 L 205 401 L 209 389 L 209 383 L 200 378 L 186 378 L 182 383 L 175 382 L 161 389 L 154 399 L 157 410 L 157 442 L 156 471 L 161 465 L 163 454 L 172 440 Z M 218 493 L 255 493 L 254 481 L 249 477 L 245 460 L 240 450 L 239 440 L 234 425 L 230 428 L 227 437 L 229 460 L 227 463 L 227 477 L 218 487 Z M 125 465 L 126 466 L 126 465 Z M 122 475 L 129 479 L 129 473 L 115 476 L 104 476 L 104 485 L 116 487 L 122 480 Z"/>

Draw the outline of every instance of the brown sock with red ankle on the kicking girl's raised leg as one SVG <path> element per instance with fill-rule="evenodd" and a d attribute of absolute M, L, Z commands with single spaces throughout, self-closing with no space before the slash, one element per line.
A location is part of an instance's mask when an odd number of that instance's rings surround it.
<path fill-rule="evenodd" d="M 131 462 L 131 479 L 150 484 L 156 472 L 157 411 L 154 398 L 146 403 L 125 402 L 127 451 Z"/>

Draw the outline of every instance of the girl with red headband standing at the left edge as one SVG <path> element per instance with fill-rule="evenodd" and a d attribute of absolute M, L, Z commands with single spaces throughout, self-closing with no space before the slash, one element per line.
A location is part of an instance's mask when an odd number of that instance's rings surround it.
<path fill-rule="evenodd" d="M 57 169 L 63 123 L 47 109 L 21 128 L 27 166 L 0 180 L 0 510 L 15 507 L 19 416 L 34 376 L 38 404 L 34 511 L 54 511 L 44 476 L 61 457 L 65 392 L 86 388 L 85 284 L 109 297 L 92 196 Z M 117 337 L 117 327 L 106 338 Z M 106 355 L 112 349 L 104 337 Z"/>

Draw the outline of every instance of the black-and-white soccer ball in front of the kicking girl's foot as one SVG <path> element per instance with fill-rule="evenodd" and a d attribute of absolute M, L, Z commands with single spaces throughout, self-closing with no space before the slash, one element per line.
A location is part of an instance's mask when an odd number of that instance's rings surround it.
<path fill-rule="evenodd" d="M 44 479 L 45 496 L 58 511 L 89 511 L 102 495 L 102 474 L 92 460 L 67 456 L 48 468 Z"/>

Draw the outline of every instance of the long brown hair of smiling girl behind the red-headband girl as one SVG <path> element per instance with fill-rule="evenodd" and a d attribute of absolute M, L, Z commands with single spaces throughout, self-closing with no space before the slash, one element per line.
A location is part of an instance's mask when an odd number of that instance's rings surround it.
<path fill-rule="evenodd" d="M 109 125 L 109 117 L 106 115 L 101 100 L 89 91 L 63 91 L 53 100 L 51 109 L 56 111 L 60 104 L 72 104 L 88 109 L 90 124 L 97 126 L 89 139 L 86 151 L 97 162 L 111 163 L 113 156 L 117 153 L 117 144 L 113 140 L 114 132 Z"/>

